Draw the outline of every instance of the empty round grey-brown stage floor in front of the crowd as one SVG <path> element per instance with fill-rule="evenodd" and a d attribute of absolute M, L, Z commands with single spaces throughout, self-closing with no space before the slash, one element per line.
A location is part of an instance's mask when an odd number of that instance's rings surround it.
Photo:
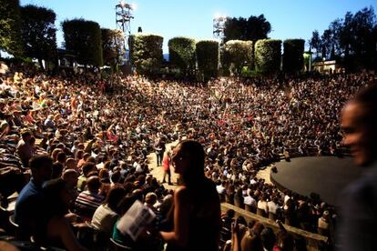
<path fill-rule="evenodd" d="M 341 190 L 362 174 L 362 167 L 354 166 L 351 157 L 297 157 L 275 166 L 278 172 L 271 172 L 270 179 L 280 189 L 287 188 L 303 196 L 313 192 L 333 206 L 339 206 Z"/>

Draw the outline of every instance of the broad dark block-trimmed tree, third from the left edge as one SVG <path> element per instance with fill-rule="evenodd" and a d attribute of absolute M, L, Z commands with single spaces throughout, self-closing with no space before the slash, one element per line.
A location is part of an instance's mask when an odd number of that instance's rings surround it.
<path fill-rule="evenodd" d="M 79 64 L 103 65 L 101 29 L 96 22 L 84 19 L 62 23 L 66 50 L 73 51 Z"/>

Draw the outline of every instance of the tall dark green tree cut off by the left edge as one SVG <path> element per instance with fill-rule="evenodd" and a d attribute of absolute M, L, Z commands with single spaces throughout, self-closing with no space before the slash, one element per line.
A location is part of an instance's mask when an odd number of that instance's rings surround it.
<path fill-rule="evenodd" d="M 18 0 L 0 0 L 0 49 L 15 56 L 23 54 Z"/>

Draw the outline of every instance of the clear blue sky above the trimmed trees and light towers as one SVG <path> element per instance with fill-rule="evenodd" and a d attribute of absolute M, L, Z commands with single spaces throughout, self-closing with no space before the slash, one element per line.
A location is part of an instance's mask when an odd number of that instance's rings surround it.
<path fill-rule="evenodd" d="M 101 27 L 116 28 L 116 0 L 20 0 L 21 5 L 33 4 L 56 12 L 58 46 L 63 42 L 60 23 L 66 19 L 83 17 L 96 21 Z M 168 39 L 178 35 L 195 39 L 212 38 L 214 15 L 243 16 L 264 14 L 272 26 L 271 38 L 311 37 L 314 29 L 320 34 L 331 21 L 372 6 L 377 13 L 376 0 L 129 0 L 136 4 L 131 31 L 138 26 L 145 33 L 164 37 L 164 53 L 168 53 Z"/>

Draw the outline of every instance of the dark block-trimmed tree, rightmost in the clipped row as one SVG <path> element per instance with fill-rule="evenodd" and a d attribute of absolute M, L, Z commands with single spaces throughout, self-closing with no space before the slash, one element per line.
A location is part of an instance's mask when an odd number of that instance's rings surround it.
<path fill-rule="evenodd" d="M 300 72 L 303 68 L 305 40 L 287 39 L 283 43 L 283 70 L 288 73 Z"/>

